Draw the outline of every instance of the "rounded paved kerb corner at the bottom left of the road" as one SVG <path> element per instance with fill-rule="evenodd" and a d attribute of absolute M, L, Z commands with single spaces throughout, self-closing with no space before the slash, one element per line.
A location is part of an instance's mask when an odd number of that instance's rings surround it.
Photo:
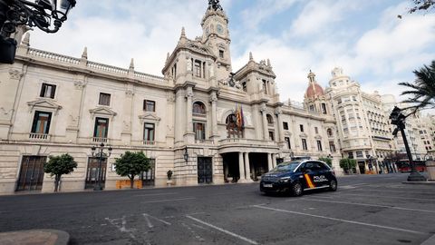
<path fill-rule="evenodd" d="M 2 245 L 67 245 L 70 234 L 62 230 L 17 230 L 0 233 Z"/>

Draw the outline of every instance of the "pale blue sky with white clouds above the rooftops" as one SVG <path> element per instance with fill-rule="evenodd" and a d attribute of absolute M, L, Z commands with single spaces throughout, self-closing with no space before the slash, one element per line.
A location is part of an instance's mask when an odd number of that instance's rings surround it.
<path fill-rule="evenodd" d="M 222 0 L 229 17 L 233 70 L 270 59 L 281 100 L 301 102 L 306 75 L 322 86 L 331 70 L 344 73 L 372 93 L 399 95 L 399 82 L 435 59 L 435 13 L 406 14 L 411 0 Z M 61 31 L 35 30 L 31 46 L 161 75 L 182 26 L 201 35 L 208 0 L 81 0 Z M 397 15 L 403 15 L 402 19 Z"/>

